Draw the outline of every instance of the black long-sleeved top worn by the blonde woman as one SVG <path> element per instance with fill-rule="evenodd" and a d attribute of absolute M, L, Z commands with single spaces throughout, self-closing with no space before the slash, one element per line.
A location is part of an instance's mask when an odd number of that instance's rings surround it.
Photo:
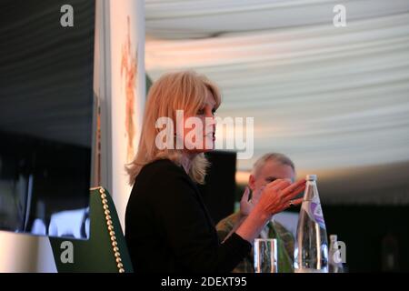
<path fill-rule="evenodd" d="M 135 272 L 230 272 L 251 250 L 235 233 L 220 244 L 197 186 L 167 159 L 136 176 L 125 238 Z"/>

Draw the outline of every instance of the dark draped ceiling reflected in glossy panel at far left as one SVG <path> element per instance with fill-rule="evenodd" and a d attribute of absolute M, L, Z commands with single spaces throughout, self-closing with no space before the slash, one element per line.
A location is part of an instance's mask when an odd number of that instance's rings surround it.
<path fill-rule="evenodd" d="M 94 1 L 1 1 L 0 131 L 91 147 Z"/>

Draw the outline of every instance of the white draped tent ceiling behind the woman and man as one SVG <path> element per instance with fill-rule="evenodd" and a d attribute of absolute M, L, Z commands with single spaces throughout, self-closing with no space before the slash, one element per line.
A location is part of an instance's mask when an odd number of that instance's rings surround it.
<path fill-rule="evenodd" d="M 254 117 L 239 170 L 269 151 L 326 181 L 373 166 L 395 176 L 386 165 L 399 162 L 407 188 L 409 0 L 343 1 L 346 27 L 333 25 L 337 4 L 146 0 L 147 73 L 195 69 L 221 87 L 219 116 Z"/>

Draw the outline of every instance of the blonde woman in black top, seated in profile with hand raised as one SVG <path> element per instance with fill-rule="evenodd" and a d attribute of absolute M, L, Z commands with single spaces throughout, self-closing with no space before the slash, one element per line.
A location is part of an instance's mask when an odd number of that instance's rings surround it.
<path fill-rule="evenodd" d="M 125 237 L 136 272 L 230 272 L 271 216 L 301 203 L 292 198 L 304 180 L 275 180 L 232 236 L 219 242 L 196 184 L 205 181 L 204 153 L 214 148 L 220 104 L 217 87 L 195 72 L 163 75 L 150 88 L 138 152 L 127 166 L 134 186 Z"/>

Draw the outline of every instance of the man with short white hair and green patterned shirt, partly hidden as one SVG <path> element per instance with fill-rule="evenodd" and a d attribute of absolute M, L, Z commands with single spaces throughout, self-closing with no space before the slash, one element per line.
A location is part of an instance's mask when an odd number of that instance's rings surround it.
<path fill-rule="evenodd" d="M 221 241 L 234 233 L 253 206 L 257 203 L 263 188 L 276 179 L 288 179 L 294 182 L 295 167 L 293 161 L 283 154 L 269 153 L 260 157 L 253 166 L 248 186 L 240 202 L 240 211 L 222 219 L 216 226 Z M 249 200 L 250 191 L 252 197 Z M 291 273 L 294 271 L 294 236 L 283 225 L 272 220 L 260 234 L 263 238 L 277 239 L 278 272 Z M 253 253 L 249 253 L 233 270 L 234 273 L 254 273 Z"/>

